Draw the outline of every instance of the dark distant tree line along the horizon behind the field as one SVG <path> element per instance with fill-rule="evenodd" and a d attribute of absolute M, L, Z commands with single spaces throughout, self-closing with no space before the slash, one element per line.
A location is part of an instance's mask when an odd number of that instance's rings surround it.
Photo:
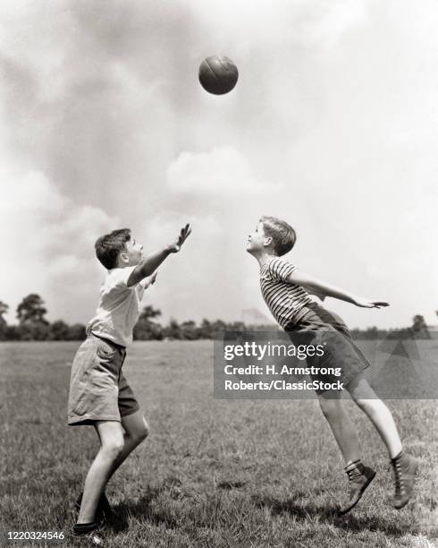
<path fill-rule="evenodd" d="M 0 340 L 83 340 L 85 326 L 81 323 L 69 325 L 63 320 L 49 322 L 46 319 L 46 305 L 36 293 L 25 296 L 18 304 L 16 317 L 18 324 L 9 325 L 4 314 L 9 310 L 8 304 L 0 301 Z M 193 320 L 181 323 L 171 319 L 162 325 L 158 318 L 161 311 L 147 305 L 139 315 L 139 321 L 134 328 L 135 340 L 164 340 L 181 339 L 197 340 L 213 338 L 220 331 L 270 331 L 275 329 L 273 324 L 250 325 L 243 321 L 226 322 L 222 320 L 202 320 L 199 323 Z M 430 338 L 429 330 L 422 315 L 413 318 L 410 327 L 398 330 L 378 330 L 376 327 L 366 330 L 351 330 L 353 338 L 382 339 L 382 338 Z"/>

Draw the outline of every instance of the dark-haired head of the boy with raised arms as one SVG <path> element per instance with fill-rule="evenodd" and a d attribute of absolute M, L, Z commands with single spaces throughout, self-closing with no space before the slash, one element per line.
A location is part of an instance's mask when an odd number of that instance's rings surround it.
<path fill-rule="evenodd" d="M 143 245 L 131 238 L 129 228 L 113 230 L 110 234 L 100 236 L 95 249 L 97 259 L 107 270 L 135 266 L 143 256 Z"/>

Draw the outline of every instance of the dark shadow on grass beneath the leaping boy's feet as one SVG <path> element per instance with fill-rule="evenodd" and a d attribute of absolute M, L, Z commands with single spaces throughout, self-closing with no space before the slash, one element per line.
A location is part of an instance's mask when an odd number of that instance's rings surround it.
<path fill-rule="evenodd" d="M 268 508 L 273 516 L 281 514 L 290 514 L 294 518 L 302 521 L 307 521 L 312 518 L 322 518 L 327 523 L 340 529 L 348 529 L 351 532 L 360 532 L 368 530 L 373 533 L 383 533 L 384 535 L 400 536 L 406 533 L 414 534 L 412 524 L 406 523 L 403 525 L 395 524 L 393 518 L 355 516 L 352 513 L 346 516 L 339 515 L 339 509 L 333 506 L 316 506 L 308 504 L 297 499 L 302 497 L 302 493 L 298 493 L 284 501 L 274 499 L 274 497 L 261 497 L 254 495 L 252 497 L 253 504 L 257 508 Z"/>

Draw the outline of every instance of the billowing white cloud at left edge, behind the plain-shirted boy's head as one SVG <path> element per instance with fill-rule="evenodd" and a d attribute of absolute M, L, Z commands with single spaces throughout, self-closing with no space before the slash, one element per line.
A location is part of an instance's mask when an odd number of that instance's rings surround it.
<path fill-rule="evenodd" d="M 118 226 L 104 210 L 63 196 L 41 172 L 18 176 L 3 170 L 0 231 L 4 268 L 0 299 L 10 305 L 9 321 L 21 298 L 39 293 L 67 321 L 85 321 L 97 301 L 103 270 L 94 255 L 99 235 Z"/>

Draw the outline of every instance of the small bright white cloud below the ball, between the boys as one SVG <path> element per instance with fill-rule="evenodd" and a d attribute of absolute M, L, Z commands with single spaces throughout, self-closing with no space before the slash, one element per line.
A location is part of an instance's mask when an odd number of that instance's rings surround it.
<path fill-rule="evenodd" d="M 278 188 L 255 176 L 248 159 L 232 147 L 181 152 L 167 169 L 167 184 L 177 193 L 201 193 L 223 199 Z"/>

